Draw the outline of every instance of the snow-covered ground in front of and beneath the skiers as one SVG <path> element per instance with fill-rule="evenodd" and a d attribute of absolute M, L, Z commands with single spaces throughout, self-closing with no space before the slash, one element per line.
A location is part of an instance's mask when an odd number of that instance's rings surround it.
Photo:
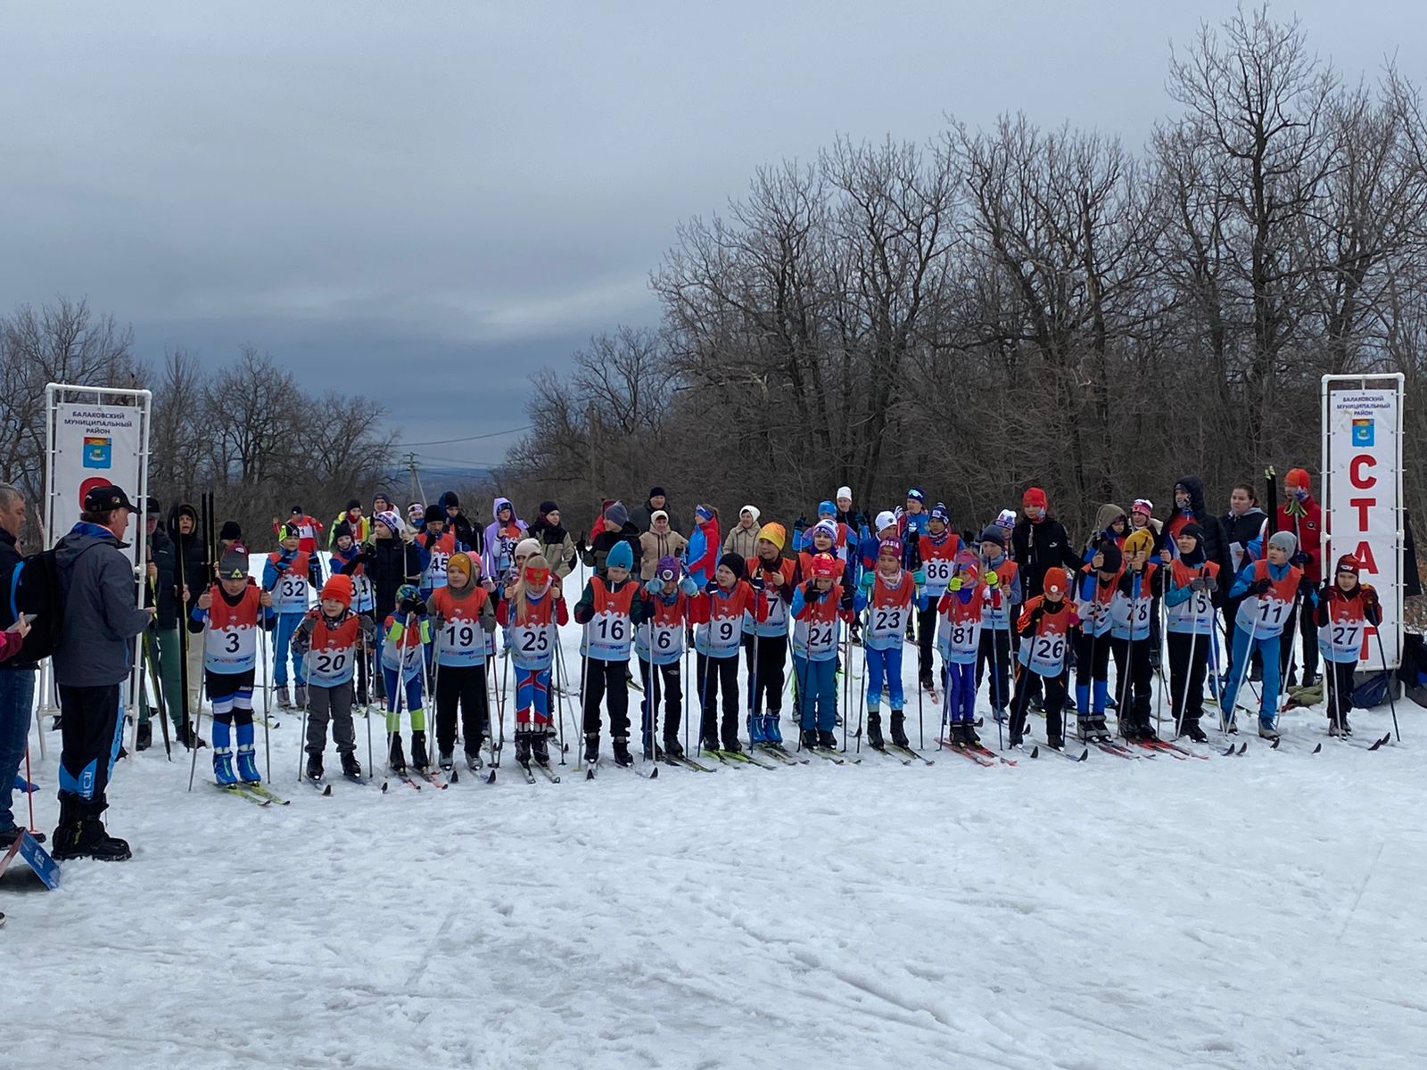
<path fill-rule="evenodd" d="M 56 893 L 6 876 L 0 1066 L 1416 1069 L 1420 712 L 1377 753 L 1310 755 L 1314 710 L 1243 758 L 863 752 L 331 798 L 297 783 L 284 713 L 290 806 L 218 795 L 207 750 L 190 795 L 160 745 L 111 790 L 131 862 Z"/>

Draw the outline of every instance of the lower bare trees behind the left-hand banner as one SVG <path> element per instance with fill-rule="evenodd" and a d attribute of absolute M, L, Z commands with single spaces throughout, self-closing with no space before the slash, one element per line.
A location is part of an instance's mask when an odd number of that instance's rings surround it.
<path fill-rule="evenodd" d="M 83 300 L 21 305 L 0 317 L 0 479 L 31 502 L 30 546 L 40 545 L 49 382 L 151 389 L 151 494 L 167 514 L 213 489 L 218 519 L 237 519 L 254 549 L 273 544 L 274 514 L 285 519 L 301 505 L 327 524 L 352 495 L 370 506 L 365 499 L 391 471 L 395 438 L 381 405 L 308 394 L 253 347 L 218 370 L 181 348 L 148 367 L 134 354 L 133 332 Z"/>

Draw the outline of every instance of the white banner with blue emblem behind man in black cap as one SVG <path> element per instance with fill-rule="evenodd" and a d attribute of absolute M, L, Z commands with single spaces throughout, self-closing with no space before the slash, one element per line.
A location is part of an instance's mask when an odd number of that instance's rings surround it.
<path fill-rule="evenodd" d="M 51 541 L 63 538 L 78 521 L 86 494 L 113 484 L 128 495 L 137 511 L 124 539 L 134 546 L 143 542 L 144 504 L 138 501 L 143 415 L 143 409 L 133 405 L 64 401 L 54 405 Z"/>

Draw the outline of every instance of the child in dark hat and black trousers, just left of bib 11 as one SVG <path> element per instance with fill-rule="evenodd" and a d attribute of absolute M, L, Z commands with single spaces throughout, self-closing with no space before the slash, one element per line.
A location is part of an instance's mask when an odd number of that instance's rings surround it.
<path fill-rule="evenodd" d="M 1219 645 L 1219 565 L 1204 558 L 1204 532 L 1197 524 L 1180 528 L 1174 542 L 1179 558 L 1169 566 L 1164 591 L 1170 716 L 1180 735 L 1203 743 L 1199 719 L 1204 713 L 1204 672 Z"/>

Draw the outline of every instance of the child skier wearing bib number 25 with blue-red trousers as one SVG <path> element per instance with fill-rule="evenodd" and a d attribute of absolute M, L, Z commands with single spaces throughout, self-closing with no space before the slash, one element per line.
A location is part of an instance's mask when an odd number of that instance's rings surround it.
<path fill-rule="evenodd" d="M 561 579 L 551 574 L 542 554 L 525 559 L 495 615 L 509 635 L 515 669 L 515 760 L 528 766 L 534 759 L 535 765 L 548 769 L 549 738 L 555 735 L 551 666 L 559 625 L 569 622 L 569 611 Z"/>

